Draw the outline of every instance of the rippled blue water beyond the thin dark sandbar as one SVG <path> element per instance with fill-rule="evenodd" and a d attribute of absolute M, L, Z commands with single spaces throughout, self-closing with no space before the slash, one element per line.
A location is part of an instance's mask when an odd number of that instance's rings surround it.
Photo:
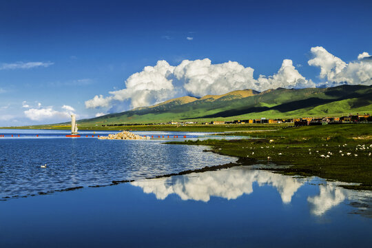
<path fill-rule="evenodd" d="M 0 140 L 0 198 L 108 185 L 236 158 L 202 152 L 206 147 L 163 141 L 103 141 L 96 138 L 4 138 Z M 47 168 L 41 165 L 47 164 Z"/>

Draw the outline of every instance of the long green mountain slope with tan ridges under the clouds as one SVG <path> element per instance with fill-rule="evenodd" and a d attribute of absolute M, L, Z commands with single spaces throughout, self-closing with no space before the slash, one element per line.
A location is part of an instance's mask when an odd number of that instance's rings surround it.
<path fill-rule="evenodd" d="M 341 85 L 329 88 L 265 92 L 238 90 L 221 96 L 196 99 L 184 96 L 151 107 L 107 114 L 79 121 L 80 124 L 162 123 L 248 118 L 340 116 L 349 112 L 372 112 L 372 86 Z"/>

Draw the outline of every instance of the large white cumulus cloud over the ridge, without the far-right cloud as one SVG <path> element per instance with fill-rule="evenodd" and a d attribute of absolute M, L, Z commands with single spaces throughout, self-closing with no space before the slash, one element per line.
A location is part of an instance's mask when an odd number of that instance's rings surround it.
<path fill-rule="evenodd" d="M 85 107 L 111 107 L 113 103 L 131 101 L 132 107 L 143 107 L 170 99 L 177 94 L 205 96 L 225 94 L 233 90 L 268 90 L 277 87 L 315 87 L 285 59 L 273 76 L 254 79 L 254 69 L 238 62 L 212 64 L 210 59 L 184 60 L 177 66 L 158 61 L 142 72 L 132 74 L 125 81 L 125 89 L 109 92 L 110 96 L 96 95 L 85 101 Z"/>

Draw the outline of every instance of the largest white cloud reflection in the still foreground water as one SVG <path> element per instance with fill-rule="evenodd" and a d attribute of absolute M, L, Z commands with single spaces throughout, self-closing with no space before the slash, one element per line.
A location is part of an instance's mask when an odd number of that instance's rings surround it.
<path fill-rule="evenodd" d="M 169 194 L 177 194 L 183 200 L 207 202 L 211 196 L 236 199 L 242 194 L 251 194 L 253 184 L 272 185 L 278 190 L 283 203 L 290 203 L 293 194 L 302 186 L 301 178 L 282 176 L 247 167 L 234 167 L 216 172 L 193 173 L 187 176 L 140 180 L 132 185 L 142 187 L 143 192 L 153 193 L 159 200 Z"/>

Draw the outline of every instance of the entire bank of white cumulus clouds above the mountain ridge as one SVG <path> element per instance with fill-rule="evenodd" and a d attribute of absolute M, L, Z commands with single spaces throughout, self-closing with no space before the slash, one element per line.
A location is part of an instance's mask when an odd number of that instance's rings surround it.
<path fill-rule="evenodd" d="M 316 84 L 306 79 L 293 65 L 291 59 L 282 61 L 278 72 L 271 76 L 254 78 L 254 69 L 235 61 L 211 63 L 210 59 L 184 60 L 172 66 L 167 61 L 158 61 L 155 66 L 146 66 L 132 74 L 122 90 L 99 94 L 85 101 L 85 107 L 110 107 L 128 101 L 131 107 L 145 107 L 176 96 L 205 96 L 225 94 L 233 90 L 264 90 L 284 88 L 317 87 L 320 85 L 372 84 L 372 60 L 369 54 L 359 54 L 358 61 L 346 63 L 322 47 L 311 48 L 311 66 L 320 68 L 322 82 Z"/>

